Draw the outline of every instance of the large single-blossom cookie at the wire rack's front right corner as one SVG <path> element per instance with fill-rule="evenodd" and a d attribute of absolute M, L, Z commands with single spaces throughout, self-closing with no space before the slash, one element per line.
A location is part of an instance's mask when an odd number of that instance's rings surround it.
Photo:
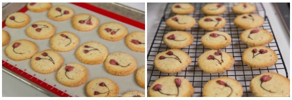
<path fill-rule="evenodd" d="M 252 78 L 249 87 L 255 96 L 290 96 L 290 79 L 275 72 L 266 72 Z"/>

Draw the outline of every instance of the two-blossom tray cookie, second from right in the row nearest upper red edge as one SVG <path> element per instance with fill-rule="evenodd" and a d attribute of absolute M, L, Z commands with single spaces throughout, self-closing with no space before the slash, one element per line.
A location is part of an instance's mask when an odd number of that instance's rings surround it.
<path fill-rule="evenodd" d="M 128 30 L 121 23 L 107 22 L 103 23 L 99 27 L 98 34 L 103 39 L 110 41 L 118 41 L 123 39 L 128 34 Z"/>

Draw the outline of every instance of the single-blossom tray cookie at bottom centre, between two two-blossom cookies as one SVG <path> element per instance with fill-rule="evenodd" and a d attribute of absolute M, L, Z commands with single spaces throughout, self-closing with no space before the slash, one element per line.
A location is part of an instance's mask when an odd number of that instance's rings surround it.
<path fill-rule="evenodd" d="M 67 63 L 59 68 L 56 78 L 65 86 L 77 87 L 87 82 L 88 70 L 79 63 Z"/>

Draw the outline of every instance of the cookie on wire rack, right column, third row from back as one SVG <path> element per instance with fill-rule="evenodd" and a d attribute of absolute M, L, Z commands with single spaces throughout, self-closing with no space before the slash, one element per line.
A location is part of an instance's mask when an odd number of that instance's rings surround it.
<path fill-rule="evenodd" d="M 260 46 L 270 43 L 274 39 L 272 33 L 266 29 L 251 28 L 240 34 L 240 40 L 249 46 Z"/>

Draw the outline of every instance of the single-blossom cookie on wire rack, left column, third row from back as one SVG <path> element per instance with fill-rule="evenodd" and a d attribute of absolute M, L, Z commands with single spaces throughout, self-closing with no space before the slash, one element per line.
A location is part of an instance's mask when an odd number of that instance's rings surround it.
<path fill-rule="evenodd" d="M 192 44 L 194 37 L 187 31 L 170 31 L 163 36 L 163 42 L 170 48 L 184 48 Z"/>

